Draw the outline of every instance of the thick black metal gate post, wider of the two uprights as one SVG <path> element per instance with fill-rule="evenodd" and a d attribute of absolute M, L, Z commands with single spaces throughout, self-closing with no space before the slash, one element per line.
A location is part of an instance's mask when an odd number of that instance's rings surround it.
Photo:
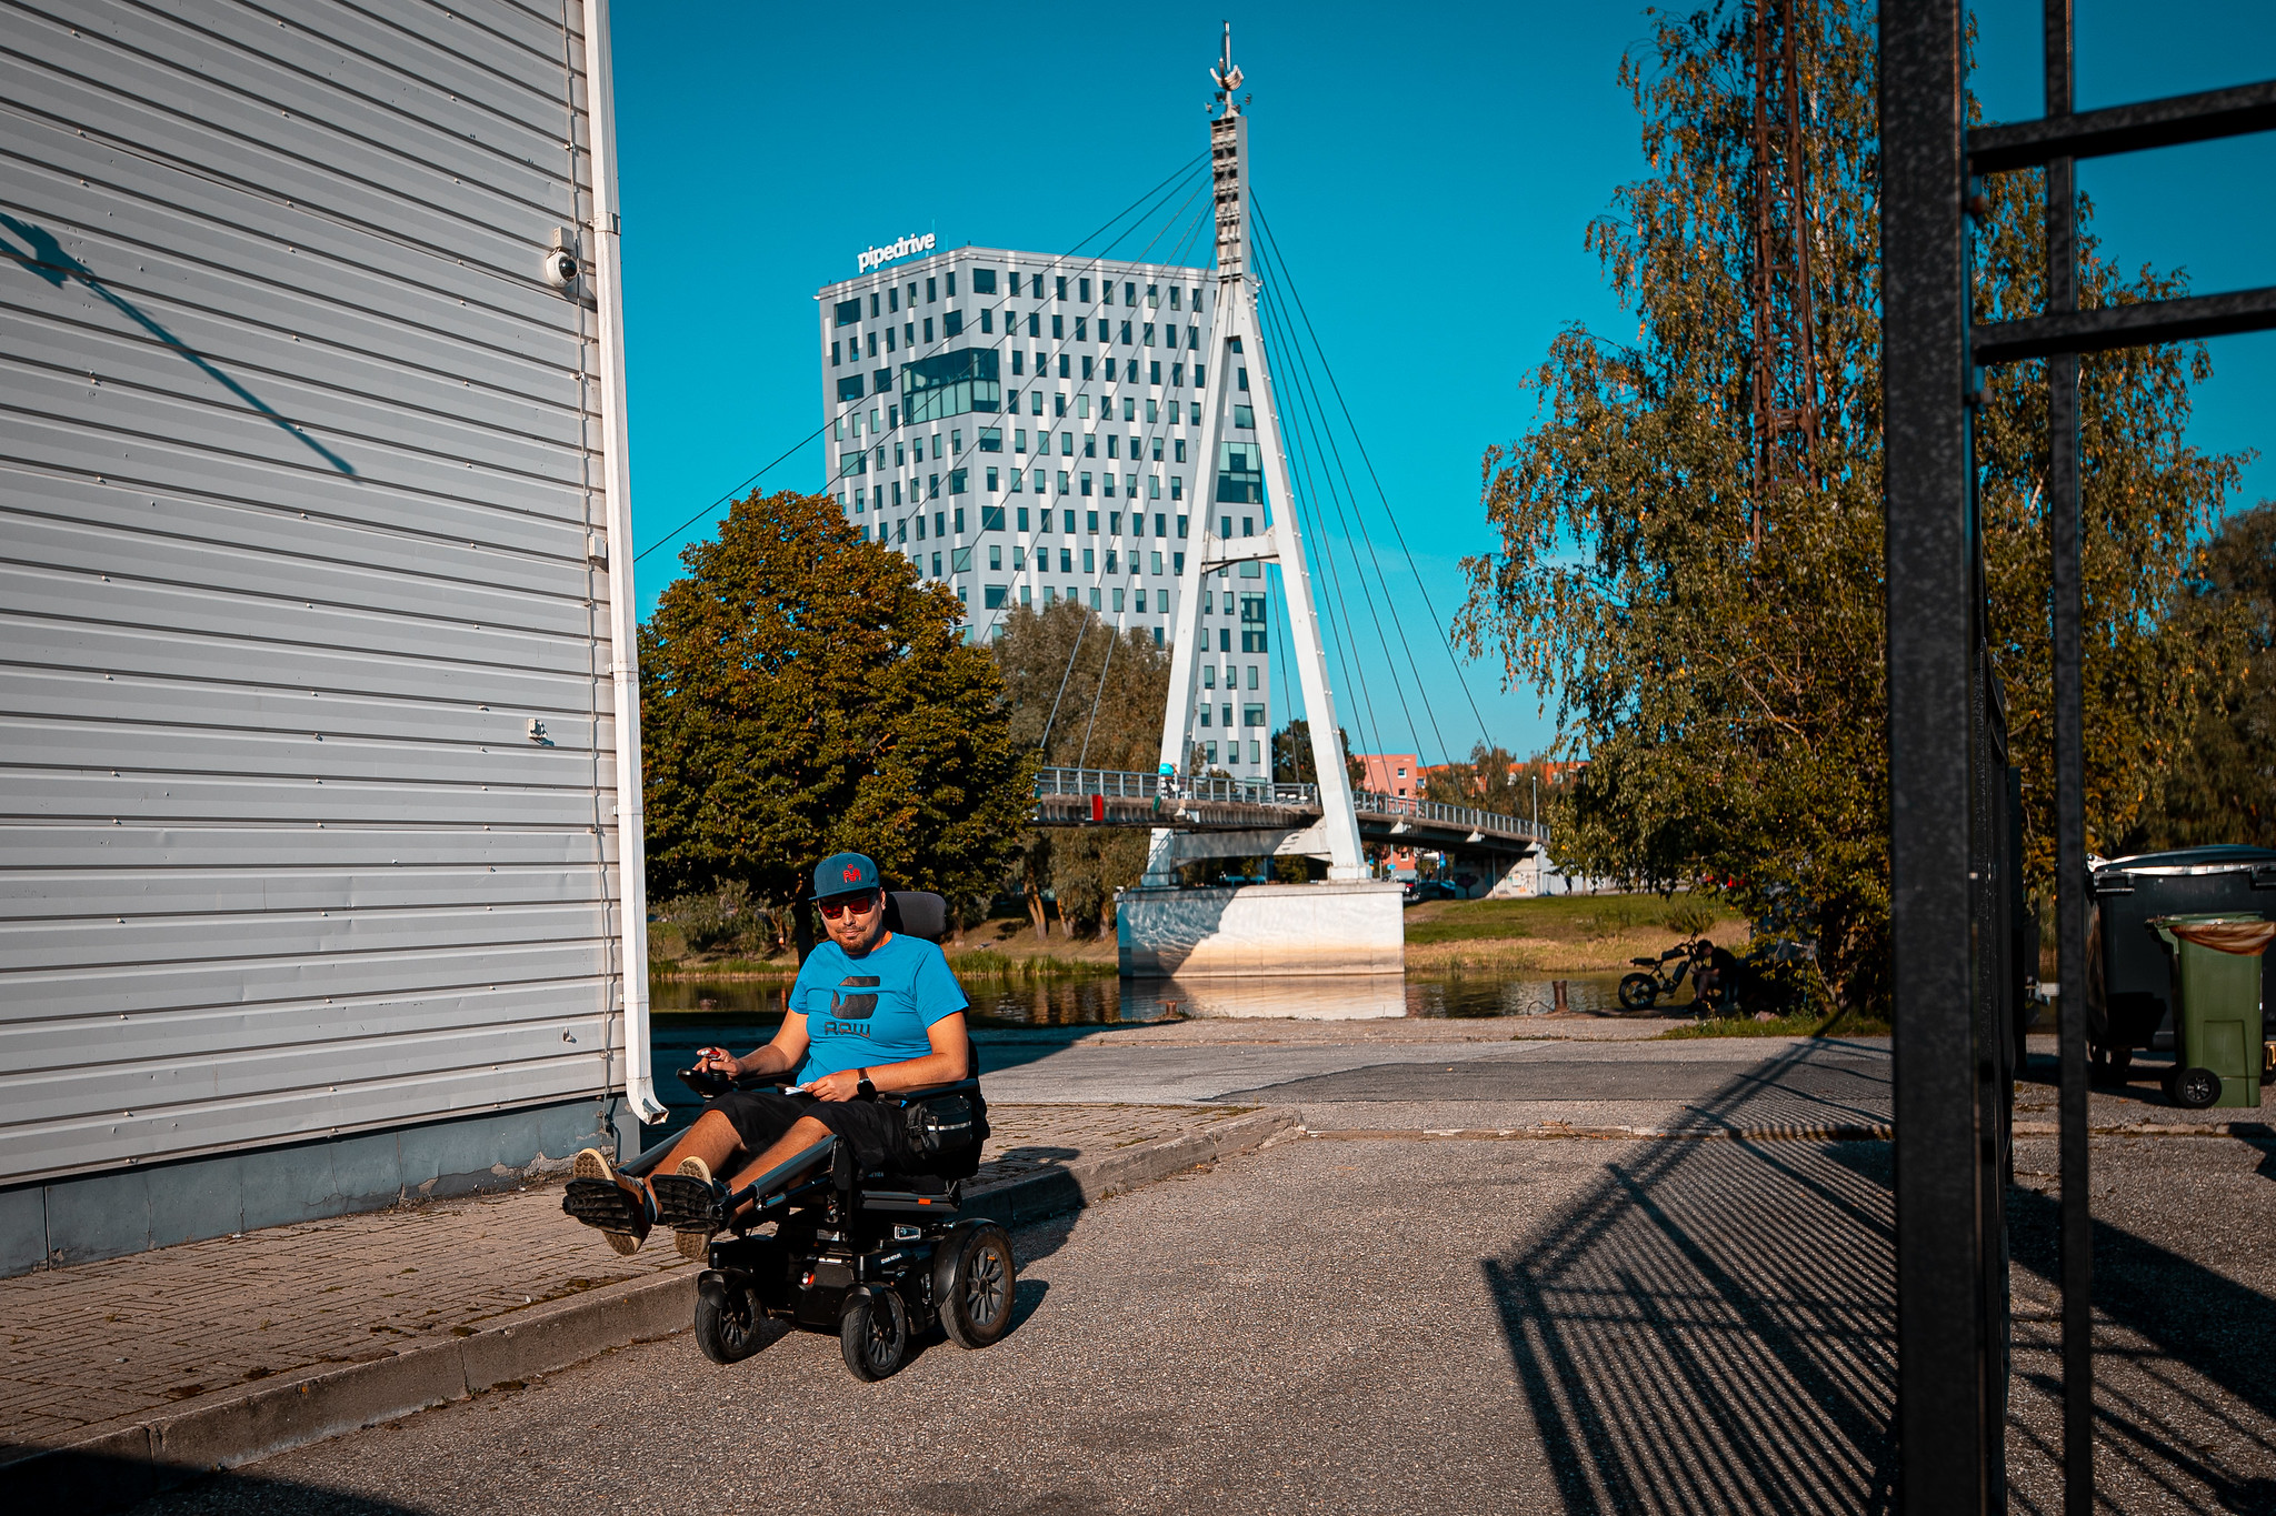
<path fill-rule="evenodd" d="M 1880 2 L 1898 1507 L 1987 1507 L 1960 0 Z"/>

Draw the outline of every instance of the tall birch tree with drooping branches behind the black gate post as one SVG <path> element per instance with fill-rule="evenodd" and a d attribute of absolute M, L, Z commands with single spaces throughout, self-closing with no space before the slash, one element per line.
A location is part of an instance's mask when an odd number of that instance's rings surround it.
<path fill-rule="evenodd" d="M 1875 59 L 1859 0 L 1796 11 L 1814 432 L 1782 425 L 1780 480 L 1759 477 L 1757 275 L 1789 305 L 1798 286 L 1791 266 L 1753 266 L 1748 11 L 1655 16 L 1641 57 L 1621 66 L 1652 173 L 1621 189 L 1586 239 L 1636 336 L 1573 327 L 1552 343 L 1536 373 L 1543 420 L 1484 457 L 1500 548 L 1466 561 L 1459 630 L 1473 652 L 1495 645 L 1511 682 L 1555 693 L 1564 745 L 1591 759 L 1557 786 L 1566 866 L 1657 889 L 1705 884 L 1757 921 L 1805 902 L 1837 993 L 1875 1005 L 1889 911 Z M 2035 193 L 2023 175 L 1991 180 L 1978 318 L 2037 300 Z M 2083 243 L 2089 305 L 2176 284 L 2126 282 Z M 2201 373 L 2203 352 L 2187 345 L 2085 364 L 2096 836 L 2126 827 L 2169 757 L 2160 730 L 2203 677 L 2164 636 L 2190 534 L 2235 480 L 2233 459 L 2180 441 Z M 2037 366 L 1991 375 L 1980 439 L 1994 650 L 2044 877 L 2053 784 Z"/>

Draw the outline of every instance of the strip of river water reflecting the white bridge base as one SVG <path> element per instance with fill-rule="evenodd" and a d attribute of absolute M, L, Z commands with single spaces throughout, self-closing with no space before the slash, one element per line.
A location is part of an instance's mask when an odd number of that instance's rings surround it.
<path fill-rule="evenodd" d="M 1568 975 L 1566 1009 L 1618 1011 L 1621 975 Z M 760 980 L 669 980 L 651 986 L 658 1014 L 724 1021 L 781 1021 L 787 984 Z M 972 980 L 974 1023 L 983 1027 L 1133 1025 L 1186 1016 L 1293 1016 L 1302 1021 L 1388 1021 L 1395 1016 L 1543 1016 L 1557 1009 L 1557 982 L 1463 975 L 1304 975 L 1279 980 Z"/>

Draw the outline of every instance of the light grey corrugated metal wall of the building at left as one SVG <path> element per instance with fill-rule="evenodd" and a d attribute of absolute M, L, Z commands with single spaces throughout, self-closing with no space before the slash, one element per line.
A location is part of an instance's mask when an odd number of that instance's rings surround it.
<path fill-rule="evenodd" d="M 621 1086 L 580 7 L 0 0 L 0 1184 Z"/>

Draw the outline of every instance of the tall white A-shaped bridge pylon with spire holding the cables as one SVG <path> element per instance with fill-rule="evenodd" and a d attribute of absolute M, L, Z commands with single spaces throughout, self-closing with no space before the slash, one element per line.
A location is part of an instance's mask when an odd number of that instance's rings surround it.
<path fill-rule="evenodd" d="M 1352 782 L 1343 766 L 1341 725 L 1336 723 L 1336 693 L 1327 682 L 1327 648 L 1320 639 L 1320 614 L 1311 595 L 1311 568 L 1304 561 L 1304 539 L 1297 532 L 1295 493 L 1288 484 L 1288 452 L 1281 436 L 1279 405 L 1272 391 L 1272 361 L 1263 339 L 1263 323 L 1256 318 L 1256 280 L 1250 277 L 1247 220 L 1250 220 L 1250 120 L 1240 111 L 1240 68 L 1234 66 L 1234 27 L 1224 27 L 1224 50 L 1218 66 L 1209 70 L 1218 84 L 1218 109 L 1209 120 L 1209 164 L 1215 191 L 1218 216 L 1218 318 L 1213 368 L 1215 386 L 1209 391 L 1209 423 L 1202 432 L 1202 470 L 1195 480 L 1195 516 L 1202 523 L 1195 550 L 1186 552 L 1186 573 L 1179 582 L 1177 618 L 1170 659 L 1170 702 L 1161 723 L 1161 764 L 1165 773 L 1193 780 L 1193 695 L 1202 661 L 1202 582 L 1234 564 L 1279 564 L 1281 593 L 1288 605 L 1288 641 L 1295 661 L 1297 686 L 1304 691 L 1304 718 L 1311 727 L 1311 757 L 1320 784 L 1320 821 L 1304 832 L 1284 839 L 1281 855 L 1304 855 L 1327 859 L 1327 877 L 1366 880 L 1368 864 L 1359 848 L 1359 821 L 1352 814 Z M 1231 407 L 1245 405 L 1256 420 L 1256 450 L 1263 455 L 1256 468 L 1243 468 L 1259 480 L 1243 484 L 1240 500 L 1222 500 L 1220 477 L 1227 473 L 1227 450 L 1231 430 Z M 1254 489 L 1256 495 L 1247 495 Z M 1259 507 L 1265 520 L 1263 534 L 1234 532 L 1236 523 L 1247 527 L 1256 514 L 1240 516 L 1238 507 Z M 1168 886 L 1177 877 L 1177 866 L 1193 857 L 1193 839 L 1179 832 L 1156 830 L 1147 852 L 1143 886 Z"/>

